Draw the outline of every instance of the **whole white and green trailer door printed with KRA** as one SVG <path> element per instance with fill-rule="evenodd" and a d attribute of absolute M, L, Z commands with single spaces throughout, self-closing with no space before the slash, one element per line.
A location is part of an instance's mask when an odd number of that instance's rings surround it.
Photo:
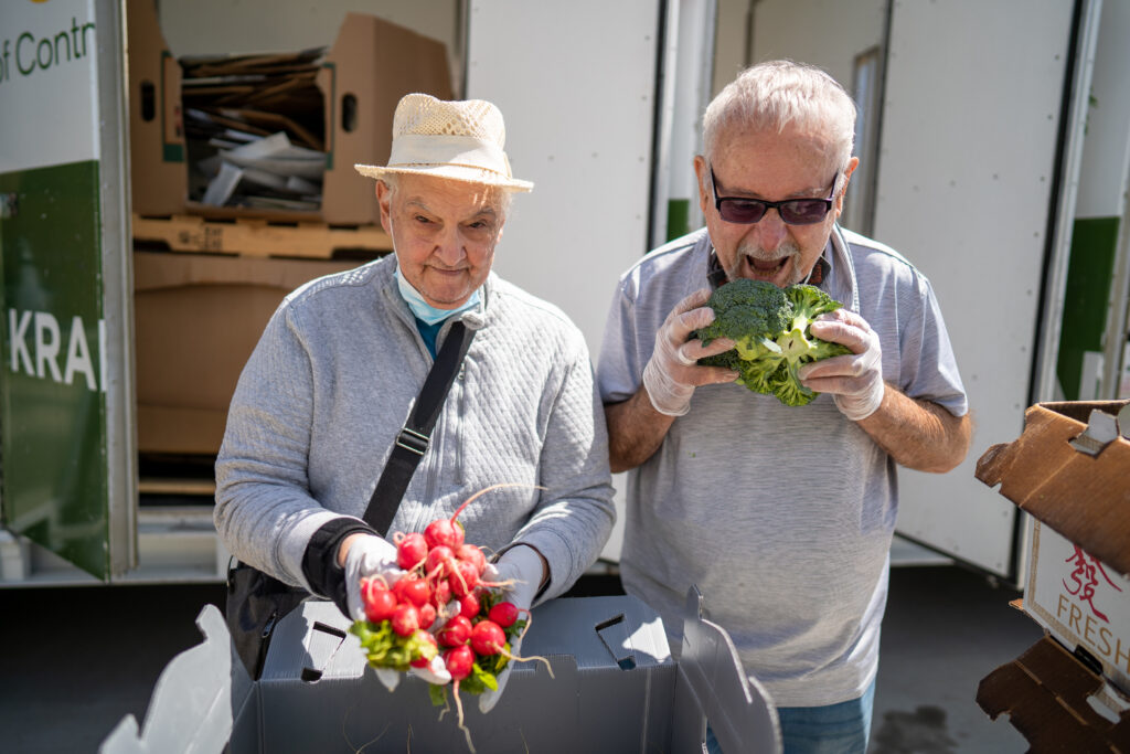
<path fill-rule="evenodd" d="M 0 9 L 0 514 L 102 580 L 136 562 L 123 10 Z"/>

